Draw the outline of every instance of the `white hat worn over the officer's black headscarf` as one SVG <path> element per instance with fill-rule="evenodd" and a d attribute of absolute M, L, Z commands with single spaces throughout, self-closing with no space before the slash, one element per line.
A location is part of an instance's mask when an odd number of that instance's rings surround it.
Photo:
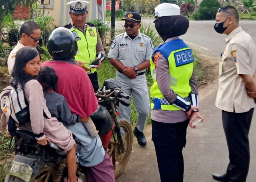
<path fill-rule="evenodd" d="M 155 7 L 155 20 L 163 16 L 180 15 L 180 7 L 176 4 L 162 3 Z M 154 22 L 155 22 L 154 20 Z"/>

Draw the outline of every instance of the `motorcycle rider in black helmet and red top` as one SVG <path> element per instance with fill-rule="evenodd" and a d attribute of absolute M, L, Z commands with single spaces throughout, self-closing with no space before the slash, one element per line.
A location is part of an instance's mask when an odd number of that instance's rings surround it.
<path fill-rule="evenodd" d="M 53 60 L 41 66 L 52 67 L 59 77 L 56 92 L 65 97 L 72 114 L 80 115 L 82 122 L 92 122 L 90 115 L 97 110 L 98 99 L 86 71 L 73 59 L 77 51 L 75 37 L 68 29 L 59 27 L 50 34 L 46 46 Z M 113 164 L 99 135 L 95 132 L 96 137 L 90 136 L 82 122 L 66 127 L 79 141 L 76 152 L 87 181 L 114 182 Z"/>

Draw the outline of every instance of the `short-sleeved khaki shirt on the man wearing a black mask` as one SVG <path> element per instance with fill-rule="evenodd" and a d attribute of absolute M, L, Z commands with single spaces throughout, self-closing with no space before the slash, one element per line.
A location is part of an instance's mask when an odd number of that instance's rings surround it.
<path fill-rule="evenodd" d="M 225 39 L 226 49 L 219 67 L 219 89 L 216 107 L 227 112 L 247 112 L 255 107 L 254 99 L 246 94 L 241 75 L 253 75 L 256 69 L 256 48 L 252 37 L 241 27 Z"/>

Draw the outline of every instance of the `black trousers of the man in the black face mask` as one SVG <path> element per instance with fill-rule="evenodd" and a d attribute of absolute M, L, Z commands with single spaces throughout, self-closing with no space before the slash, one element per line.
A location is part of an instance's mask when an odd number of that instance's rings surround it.
<path fill-rule="evenodd" d="M 233 182 L 246 182 L 250 163 L 249 130 L 253 110 L 243 113 L 222 110 L 223 128 L 229 149 L 227 176 Z"/>

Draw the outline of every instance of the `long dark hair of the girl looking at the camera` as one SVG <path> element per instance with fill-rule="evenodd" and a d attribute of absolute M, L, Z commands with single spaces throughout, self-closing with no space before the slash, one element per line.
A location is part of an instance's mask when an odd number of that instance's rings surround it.
<path fill-rule="evenodd" d="M 11 86 L 17 88 L 18 84 L 20 84 L 22 88 L 24 87 L 25 80 L 23 78 L 25 72 L 23 68 L 26 66 L 27 62 L 38 55 L 41 59 L 39 52 L 35 48 L 29 46 L 23 47 L 16 52 L 15 63 L 11 72 Z"/>

